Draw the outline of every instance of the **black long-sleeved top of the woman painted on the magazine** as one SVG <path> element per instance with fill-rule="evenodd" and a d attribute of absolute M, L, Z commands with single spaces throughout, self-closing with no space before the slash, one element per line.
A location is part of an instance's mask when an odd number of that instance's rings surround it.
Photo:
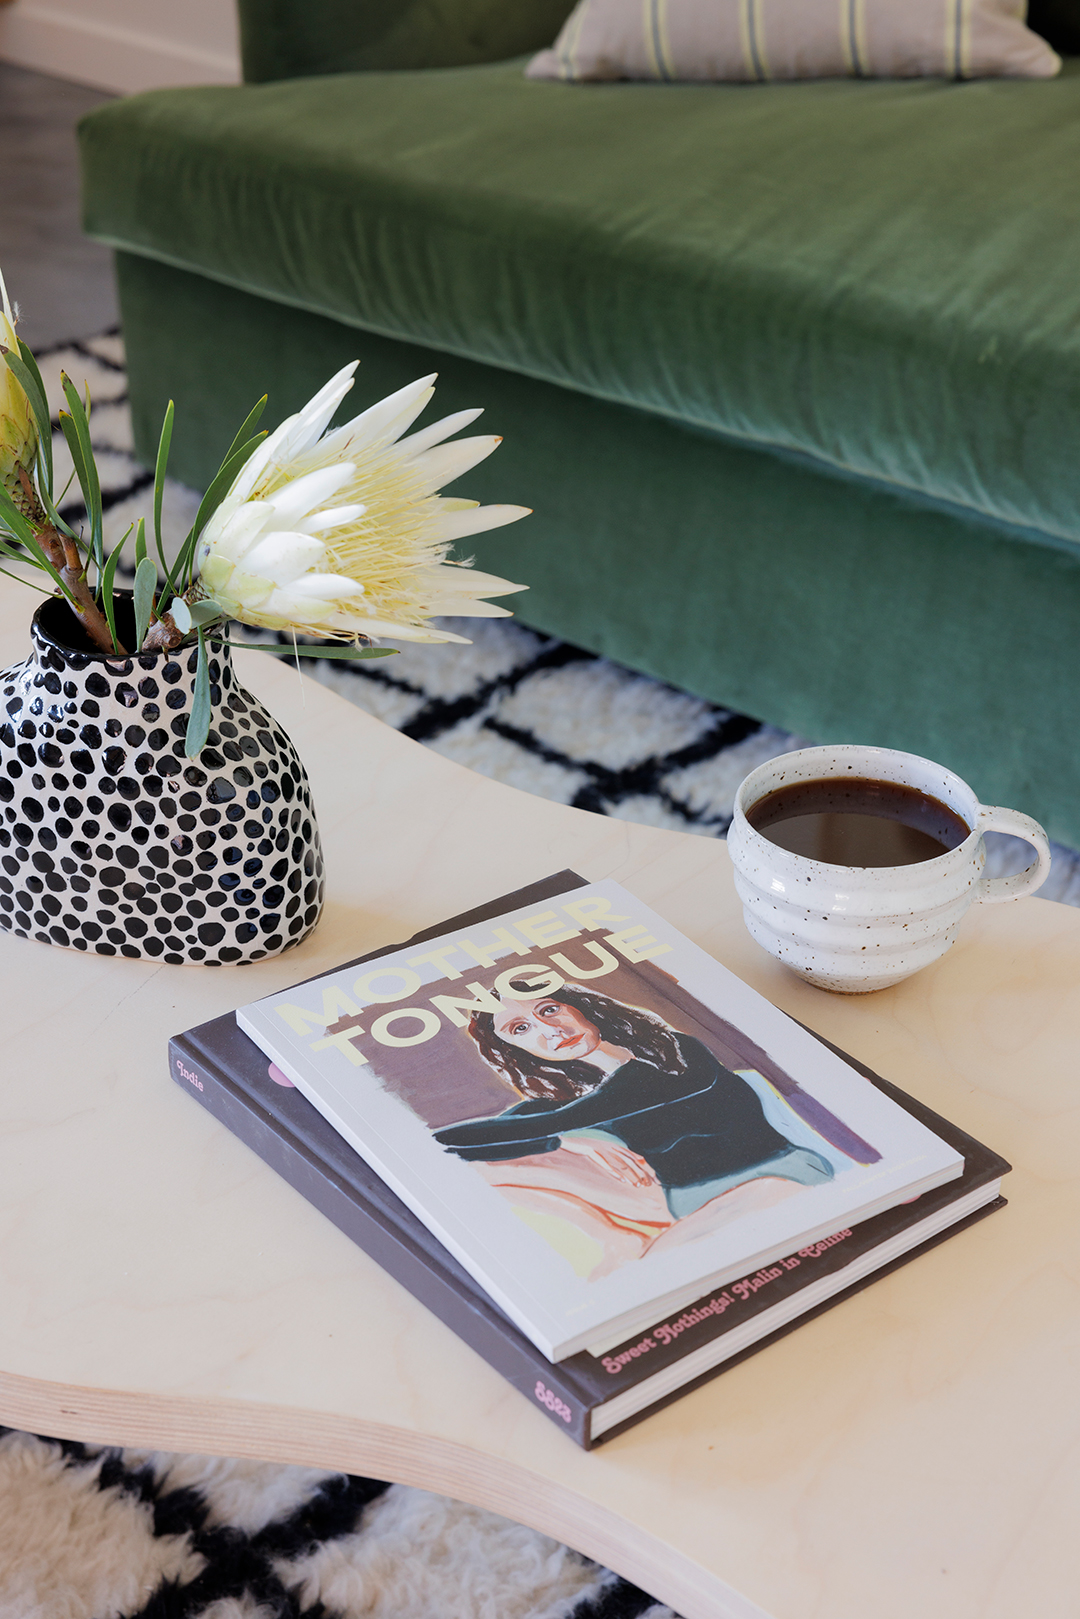
<path fill-rule="evenodd" d="M 682 1073 L 631 1057 L 572 1103 L 517 1103 L 492 1119 L 436 1130 L 436 1140 L 460 1158 L 491 1162 L 552 1153 L 567 1130 L 607 1130 L 651 1166 L 662 1187 L 733 1175 L 790 1149 L 753 1086 L 693 1035 L 677 1041 Z"/>

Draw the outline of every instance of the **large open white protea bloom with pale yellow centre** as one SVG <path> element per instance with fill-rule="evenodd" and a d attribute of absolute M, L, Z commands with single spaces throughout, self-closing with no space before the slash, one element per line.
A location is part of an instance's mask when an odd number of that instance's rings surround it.
<path fill-rule="evenodd" d="M 421 377 L 322 437 L 353 385 L 338 371 L 254 452 L 199 538 L 201 588 L 222 612 L 267 630 L 334 638 L 463 641 L 429 617 L 508 617 L 484 601 L 525 589 L 445 560 L 455 539 L 528 516 L 528 507 L 437 491 L 500 442 L 452 434 L 458 411 L 403 439 L 434 393 Z"/>

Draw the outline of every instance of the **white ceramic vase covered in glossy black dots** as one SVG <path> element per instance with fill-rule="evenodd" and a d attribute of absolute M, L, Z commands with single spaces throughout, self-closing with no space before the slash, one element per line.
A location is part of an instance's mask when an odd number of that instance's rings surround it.
<path fill-rule="evenodd" d="M 311 788 L 228 646 L 207 648 L 210 732 L 188 759 L 194 649 L 115 657 L 65 635 L 81 630 L 52 597 L 0 674 L 0 926 L 175 967 L 300 944 L 322 910 Z"/>

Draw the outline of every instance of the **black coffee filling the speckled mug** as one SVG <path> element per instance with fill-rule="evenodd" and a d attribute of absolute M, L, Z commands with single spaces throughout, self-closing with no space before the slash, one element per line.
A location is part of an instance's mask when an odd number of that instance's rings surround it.
<path fill-rule="evenodd" d="M 955 810 L 918 787 L 850 776 L 777 787 L 746 821 L 779 848 L 834 866 L 913 866 L 972 834 Z"/>

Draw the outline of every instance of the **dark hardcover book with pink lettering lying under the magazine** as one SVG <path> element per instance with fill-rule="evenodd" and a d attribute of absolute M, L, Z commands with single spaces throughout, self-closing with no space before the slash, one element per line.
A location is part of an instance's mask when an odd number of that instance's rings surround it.
<path fill-rule="evenodd" d="M 406 942 L 419 944 L 452 928 L 470 926 L 518 905 L 551 899 L 583 882 L 585 879 L 572 871 L 557 873 L 515 894 L 499 895 L 463 916 L 440 921 Z M 359 965 L 400 947 L 387 945 L 347 965 Z M 827 1242 L 813 1243 L 779 1264 L 714 1289 L 670 1319 L 656 1323 L 649 1332 L 638 1332 L 630 1342 L 614 1345 L 602 1357 L 581 1352 L 557 1365 L 507 1319 L 442 1243 L 300 1091 L 275 1083 L 266 1056 L 241 1033 L 232 1013 L 178 1035 L 170 1043 L 170 1075 L 432 1310 L 445 1326 L 538 1404 L 559 1428 L 588 1449 L 601 1438 L 622 1433 L 651 1410 L 766 1347 L 792 1326 L 850 1297 L 878 1276 L 1004 1203 L 997 1198 L 959 1219 L 938 1235 L 873 1269 L 870 1276 L 852 1285 L 842 1285 L 837 1294 L 798 1313 L 793 1321 L 763 1332 L 756 1342 L 729 1355 L 719 1365 L 709 1366 L 698 1376 L 688 1376 L 685 1383 L 649 1400 L 625 1421 L 619 1421 L 599 1436 L 594 1434 L 594 1412 L 614 1397 L 631 1391 L 656 1373 L 664 1373 L 695 1350 L 714 1344 L 717 1337 L 748 1326 L 756 1316 L 792 1298 L 810 1284 L 836 1276 L 852 1261 L 957 1203 L 978 1187 L 997 1180 L 1009 1169 L 1002 1158 L 965 1132 L 905 1096 L 863 1064 L 844 1052 L 839 1054 L 921 1124 L 962 1151 L 963 1174 L 912 1203 L 863 1221 Z"/>

